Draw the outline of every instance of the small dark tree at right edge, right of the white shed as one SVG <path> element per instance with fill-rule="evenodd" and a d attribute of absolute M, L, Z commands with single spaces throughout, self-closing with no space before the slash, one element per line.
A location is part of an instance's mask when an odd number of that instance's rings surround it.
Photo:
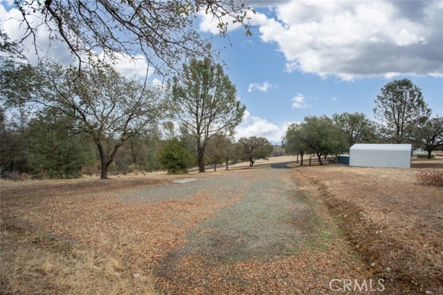
<path fill-rule="evenodd" d="M 443 117 L 433 117 L 426 120 L 424 124 L 419 126 L 418 133 L 428 152 L 428 159 L 431 159 L 432 151 L 443 144 Z"/>

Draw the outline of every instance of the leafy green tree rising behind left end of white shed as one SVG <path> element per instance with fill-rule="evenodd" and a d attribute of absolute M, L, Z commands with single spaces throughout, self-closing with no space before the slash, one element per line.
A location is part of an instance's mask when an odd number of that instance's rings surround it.
<path fill-rule="evenodd" d="M 334 124 L 346 133 L 347 144 L 370 142 L 375 126 L 364 113 L 341 113 L 332 115 Z"/>

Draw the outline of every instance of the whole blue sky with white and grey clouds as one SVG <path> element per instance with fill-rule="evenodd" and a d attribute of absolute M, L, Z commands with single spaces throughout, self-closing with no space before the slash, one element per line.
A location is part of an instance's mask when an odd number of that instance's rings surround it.
<path fill-rule="evenodd" d="M 236 137 L 279 144 L 287 126 L 308 115 L 365 113 L 380 89 L 408 78 L 422 89 L 433 115 L 443 116 L 443 1 L 247 0 L 253 36 L 228 21 L 228 37 L 201 12 L 197 28 L 213 38 L 239 100 L 246 105 Z M 12 1 L 0 1 L 0 26 L 19 32 Z M 43 38 L 44 39 L 44 38 Z M 41 44 L 44 47 L 43 44 Z M 48 55 L 67 58 L 63 48 Z M 66 53 L 67 55 L 67 53 Z M 144 75 L 145 64 L 117 64 Z M 153 82 L 158 83 L 152 76 Z"/>

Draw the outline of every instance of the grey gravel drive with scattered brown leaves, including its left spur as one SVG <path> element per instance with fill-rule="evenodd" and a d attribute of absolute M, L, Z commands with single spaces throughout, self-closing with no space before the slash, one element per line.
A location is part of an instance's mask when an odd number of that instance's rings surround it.
<path fill-rule="evenodd" d="M 333 294 L 334 278 L 365 280 L 360 258 L 318 199 L 298 187 L 295 171 L 260 166 L 120 191 L 119 200 L 139 204 L 192 203 L 201 195 L 199 206 L 226 204 L 190 227 L 186 243 L 150 265 L 161 292 Z M 173 222 L 181 225 L 180 218 Z"/>

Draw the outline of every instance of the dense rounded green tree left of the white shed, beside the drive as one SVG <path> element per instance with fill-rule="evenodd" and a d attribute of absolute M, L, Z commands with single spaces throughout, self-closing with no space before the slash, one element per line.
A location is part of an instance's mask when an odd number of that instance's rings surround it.
<path fill-rule="evenodd" d="M 320 165 L 323 165 L 322 155 L 338 155 L 348 148 L 345 133 L 325 115 L 305 117 L 301 134 L 309 149 L 316 153 Z"/>

